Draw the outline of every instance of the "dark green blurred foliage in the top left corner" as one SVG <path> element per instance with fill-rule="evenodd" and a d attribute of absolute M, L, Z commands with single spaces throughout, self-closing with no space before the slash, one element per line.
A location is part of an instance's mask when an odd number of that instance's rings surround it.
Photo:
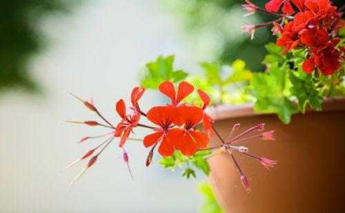
<path fill-rule="evenodd" d="M 52 12 L 68 12 L 67 0 L 1 0 L 0 1 L 0 91 L 22 88 L 37 89 L 28 70 L 28 60 L 42 47 L 43 35 L 37 25 Z"/>

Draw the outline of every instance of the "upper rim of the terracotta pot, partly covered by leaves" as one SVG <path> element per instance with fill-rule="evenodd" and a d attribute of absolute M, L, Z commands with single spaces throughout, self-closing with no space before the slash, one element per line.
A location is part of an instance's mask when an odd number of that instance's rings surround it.
<path fill-rule="evenodd" d="M 268 115 L 262 113 L 255 113 L 254 103 L 246 103 L 241 105 L 218 105 L 209 108 L 208 115 L 214 120 L 224 120 L 235 117 L 251 117 L 259 115 Z M 310 107 L 306 108 L 306 113 L 310 112 L 324 112 L 324 111 L 345 111 L 345 96 L 335 98 L 325 98 L 322 102 L 322 111 L 315 111 Z"/>

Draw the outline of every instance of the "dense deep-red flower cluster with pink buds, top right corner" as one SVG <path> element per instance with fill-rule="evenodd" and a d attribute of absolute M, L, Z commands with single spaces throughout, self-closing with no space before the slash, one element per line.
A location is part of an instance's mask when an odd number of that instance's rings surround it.
<path fill-rule="evenodd" d="M 244 8 L 248 10 L 248 5 L 251 5 L 253 11 L 256 6 L 248 0 L 246 2 L 248 4 Z M 299 12 L 295 13 L 292 3 Z M 283 14 L 277 14 L 281 5 Z M 258 27 L 273 25 L 273 34 L 282 34 L 277 39 L 277 45 L 285 47 L 282 53 L 306 49 L 308 59 L 302 64 L 302 69 L 307 74 L 314 71 L 315 67 L 325 76 L 339 69 L 342 56 L 335 48 L 340 41 L 335 36 L 344 27 L 344 23 L 341 21 L 342 13 L 337 12 L 337 7 L 331 5 L 329 0 L 270 0 L 265 8 L 266 13 L 278 16 L 279 19 L 259 25 L 247 25 L 245 29 L 250 27 L 253 33 Z M 261 8 L 257 10 L 265 12 Z"/>

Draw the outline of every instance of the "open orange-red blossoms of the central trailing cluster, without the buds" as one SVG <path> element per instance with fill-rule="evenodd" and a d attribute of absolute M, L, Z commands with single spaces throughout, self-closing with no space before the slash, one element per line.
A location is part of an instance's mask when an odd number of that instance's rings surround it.
<path fill-rule="evenodd" d="M 175 150 L 180 150 L 182 154 L 191 156 L 197 152 L 197 148 L 206 148 L 209 142 L 208 135 L 195 131 L 195 126 L 202 121 L 204 128 L 209 131 L 210 135 L 212 134 L 211 119 L 204 111 L 210 98 L 204 91 L 198 90 L 201 100 L 204 101 L 204 106 L 202 108 L 189 106 L 185 103 L 181 104 L 181 101 L 194 91 L 192 85 L 188 82 L 181 82 L 176 93 L 171 82 L 163 82 L 159 85 L 159 91 L 171 99 L 171 104 L 154 106 L 146 115 L 141 112 L 139 104 L 137 104 L 144 93 L 144 89 L 140 89 L 141 92 L 135 92 L 138 90 L 139 87 L 136 87 L 132 92 L 133 108 L 130 108 L 131 113 L 128 115 L 126 115 L 124 101 L 119 100 L 117 102 L 117 113 L 122 117 L 122 121 L 117 125 L 115 137 L 121 137 L 120 147 L 124 146 L 132 128 L 139 125 L 152 128 L 152 131 L 155 131 L 155 133 L 144 137 L 144 146 L 148 148 L 159 144 L 158 152 L 162 156 L 171 156 Z M 139 124 L 141 115 L 145 115 L 150 122 L 157 126 Z"/>

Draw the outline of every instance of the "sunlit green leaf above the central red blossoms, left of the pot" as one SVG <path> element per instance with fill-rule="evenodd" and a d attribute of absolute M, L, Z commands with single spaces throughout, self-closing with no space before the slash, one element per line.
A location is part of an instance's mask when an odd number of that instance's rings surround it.
<path fill-rule="evenodd" d="M 148 89 L 157 89 L 161 82 L 170 80 L 171 82 L 180 82 L 188 76 L 182 70 L 174 71 L 172 65 L 174 56 L 163 58 L 159 56 L 155 62 L 146 64 L 144 78 L 141 79 L 141 87 Z"/>

